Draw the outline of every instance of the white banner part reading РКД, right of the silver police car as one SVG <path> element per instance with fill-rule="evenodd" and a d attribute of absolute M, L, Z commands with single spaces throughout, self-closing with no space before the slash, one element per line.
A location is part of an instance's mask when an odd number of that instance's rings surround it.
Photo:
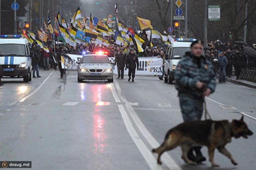
<path fill-rule="evenodd" d="M 162 75 L 163 59 L 157 57 L 138 57 L 139 68 L 136 69 L 137 75 Z M 114 58 L 109 58 L 114 60 Z M 114 74 L 117 74 L 117 66 L 114 66 Z M 124 74 L 128 74 L 128 68 L 125 68 Z"/>

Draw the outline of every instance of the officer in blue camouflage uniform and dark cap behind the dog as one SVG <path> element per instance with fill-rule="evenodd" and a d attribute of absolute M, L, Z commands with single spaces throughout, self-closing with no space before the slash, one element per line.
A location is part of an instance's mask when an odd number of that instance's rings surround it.
<path fill-rule="evenodd" d="M 203 43 L 193 41 L 191 51 L 177 65 L 175 71 L 176 89 L 184 121 L 200 120 L 203 115 L 203 98 L 215 91 L 216 79 L 210 61 L 202 55 Z M 206 161 L 200 151 L 202 147 L 194 146 L 188 152 L 188 158 L 194 162 Z M 193 150 L 196 156 L 193 155 Z"/>

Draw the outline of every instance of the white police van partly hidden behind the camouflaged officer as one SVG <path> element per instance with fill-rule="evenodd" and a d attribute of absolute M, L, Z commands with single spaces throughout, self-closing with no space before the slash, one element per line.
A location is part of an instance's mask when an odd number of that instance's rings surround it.
<path fill-rule="evenodd" d="M 178 62 L 190 51 L 190 45 L 196 39 L 190 38 L 177 38 L 168 47 L 165 54 L 165 69 L 164 69 L 164 82 L 171 84 L 174 81 L 174 72 Z"/>

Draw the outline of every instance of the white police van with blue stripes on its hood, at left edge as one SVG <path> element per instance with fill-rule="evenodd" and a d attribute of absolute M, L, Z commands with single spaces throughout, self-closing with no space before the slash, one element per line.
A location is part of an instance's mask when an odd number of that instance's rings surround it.
<path fill-rule="evenodd" d="M 32 62 L 29 42 L 21 35 L 0 35 L 0 80 L 23 78 L 31 81 Z"/>

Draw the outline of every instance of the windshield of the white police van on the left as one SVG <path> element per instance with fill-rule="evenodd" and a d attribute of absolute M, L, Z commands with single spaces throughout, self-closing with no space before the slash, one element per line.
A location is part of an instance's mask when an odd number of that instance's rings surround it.
<path fill-rule="evenodd" d="M 25 45 L 22 44 L 0 44 L 0 55 L 26 56 Z"/>

